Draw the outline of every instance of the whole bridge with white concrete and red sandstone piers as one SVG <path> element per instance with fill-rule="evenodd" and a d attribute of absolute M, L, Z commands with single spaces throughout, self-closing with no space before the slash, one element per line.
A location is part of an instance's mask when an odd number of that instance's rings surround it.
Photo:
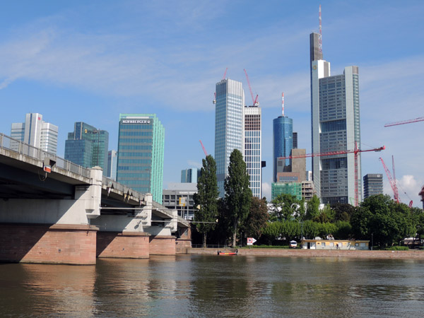
<path fill-rule="evenodd" d="M 95 264 L 190 245 L 189 221 L 151 194 L 0 134 L 0 261 Z"/>

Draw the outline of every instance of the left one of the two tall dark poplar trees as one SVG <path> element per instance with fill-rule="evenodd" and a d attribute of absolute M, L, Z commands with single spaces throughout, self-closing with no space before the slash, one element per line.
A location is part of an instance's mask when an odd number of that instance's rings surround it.
<path fill-rule="evenodd" d="M 218 217 L 218 183 L 216 182 L 216 163 L 211 155 L 202 160 L 200 177 L 197 181 L 197 193 L 194 204 L 198 211 L 194 213 L 197 230 L 203 234 L 203 245 L 206 247 L 206 235 L 215 228 Z"/>

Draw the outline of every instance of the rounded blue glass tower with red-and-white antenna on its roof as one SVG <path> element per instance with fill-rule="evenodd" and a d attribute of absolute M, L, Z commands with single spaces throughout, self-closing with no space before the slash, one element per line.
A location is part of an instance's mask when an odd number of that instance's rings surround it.
<path fill-rule="evenodd" d="M 293 119 L 279 116 L 273 119 L 273 182 L 277 180 L 277 165 L 290 165 L 290 159 L 277 160 L 288 157 L 293 149 Z M 281 170 L 283 167 L 281 167 Z"/>

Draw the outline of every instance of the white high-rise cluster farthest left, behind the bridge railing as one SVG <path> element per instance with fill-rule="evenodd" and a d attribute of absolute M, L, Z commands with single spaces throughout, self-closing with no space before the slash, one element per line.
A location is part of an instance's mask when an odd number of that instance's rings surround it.
<path fill-rule="evenodd" d="M 11 137 L 23 143 L 28 143 L 42 151 L 57 153 L 57 134 L 59 127 L 42 120 L 42 114 L 28 113 L 25 122 L 13 123 Z M 18 147 L 18 143 L 11 142 L 11 149 Z"/>

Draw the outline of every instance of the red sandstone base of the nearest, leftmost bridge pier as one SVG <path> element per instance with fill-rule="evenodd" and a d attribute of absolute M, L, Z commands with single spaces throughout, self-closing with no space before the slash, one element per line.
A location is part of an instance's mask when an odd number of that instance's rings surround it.
<path fill-rule="evenodd" d="M 93 265 L 97 231 L 90 225 L 0 223 L 0 261 Z"/>

